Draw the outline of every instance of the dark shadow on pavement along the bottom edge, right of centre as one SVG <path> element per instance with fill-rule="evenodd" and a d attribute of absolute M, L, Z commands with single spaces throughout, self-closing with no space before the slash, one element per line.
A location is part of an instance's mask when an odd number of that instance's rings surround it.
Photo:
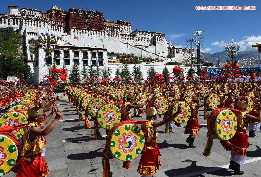
<path fill-rule="evenodd" d="M 197 171 L 204 171 L 203 173 L 206 174 L 210 174 L 210 175 L 217 175 L 217 176 L 232 176 L 234 173 L 232 171 L 228 171 L 225 168 L 220 168 L 220 167 L 203 167 L 203 166 L 197 166 L 197 161 L 191 161 L 191 160 L 185 160 L 182 162 L 192 162 L 190 166 L 185 167 L 185 168 L 179 168 L 179 169 L 171 169 L 171 170 L 167 170 L 165 171 L 166 176 L 169 177 L 175 177 L 175 176 L 179 176 L 181 174 L 188 174 L 188 173 L 193 173 L 193 172 L 197 172 Z M 211 169 L 213 169 L 213 171 L 211 171 Z M 210 171 L 208 171 L 210 170 Z M 177 175 L 175 175 L 177 174 Z M 195 174 L 193 176 L 193 174 L 191 175 L 191 177 L 204 177 L 204 175 L 202 174 Z"/>

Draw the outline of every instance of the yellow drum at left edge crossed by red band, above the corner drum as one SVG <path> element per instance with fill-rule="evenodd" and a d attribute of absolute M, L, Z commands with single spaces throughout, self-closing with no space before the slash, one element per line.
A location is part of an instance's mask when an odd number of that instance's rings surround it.
<path fill-rule="evenodd" d="M 0 117 L 0 127 L 16 126 L 16 125 L 27 124 L 27 123 L 28 123 L 28 117 L 22 112 L 18 112 L 18 111 L 6 112 Z M 12 130 L 11 133 L 15 137 L 17 137 L 17 139 L 20 139 L 23 137 L 23 131 L 24 129 L 17 129 L 17 130 Z"/>

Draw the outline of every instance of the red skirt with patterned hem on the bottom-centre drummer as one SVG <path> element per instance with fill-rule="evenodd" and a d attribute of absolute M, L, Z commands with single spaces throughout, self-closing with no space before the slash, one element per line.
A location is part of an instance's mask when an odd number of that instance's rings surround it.
<path fill-rule="evenodd" d="M 160 149 L 157 143 L 147 145 L 146 152 L 142 150 L 142 156 L 137 169 L 138 174 L 153 176 L 160 169 Z"/>

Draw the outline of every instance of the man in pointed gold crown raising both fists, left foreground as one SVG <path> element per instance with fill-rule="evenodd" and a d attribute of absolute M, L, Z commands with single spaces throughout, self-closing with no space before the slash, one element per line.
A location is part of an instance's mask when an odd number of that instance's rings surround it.
<path fill-rule="evenodd" d="M 51 112 L 53 115 L 54 111 Z M 43 177 L 49 174 L 48 166 L 44 157 L 41 156 L 43 150 L 43 142 L 41 136 L 48 135 L 55 127 L 58 120 L 61 118 L 61 112 L 57 111 L 55 119 L 45 129 L 46 119 L 44 119 L 44 111 L 39 106 L 28 106 L 29 122 L 24 130 L 22 137 L 22 150 L 21 156 L 25 155 L 25 158 L 20 163 L 19 170 L 16 177 Z"/>

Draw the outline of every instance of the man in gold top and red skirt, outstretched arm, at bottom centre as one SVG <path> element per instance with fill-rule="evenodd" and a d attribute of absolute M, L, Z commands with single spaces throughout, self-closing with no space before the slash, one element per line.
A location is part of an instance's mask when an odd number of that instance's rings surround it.
<path fill-rule="evenodd" d="M 139 162 L 137 172 L 142 176 L 153 176 L 160 169 L 160 149 L 157 144 L 158 128 L 169 121 L 172 121 L 181 112 L 181 108 L 178 106 L 177 112 L 170 117 L 156 121 L 157 119 L 157 107 L 153 104 L 149 104 L 145 110 L 148 122 L 144 122 L 141 126 L 142 131 L 145 133 L 145 146 L 142 150 L 142 157 Z"/>

